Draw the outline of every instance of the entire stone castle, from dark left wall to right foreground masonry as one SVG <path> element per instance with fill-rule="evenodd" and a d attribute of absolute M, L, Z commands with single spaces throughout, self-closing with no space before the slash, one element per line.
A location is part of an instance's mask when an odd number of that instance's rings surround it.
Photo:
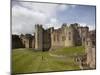
<path fill-rule="evenodd" d="M 78 23 L 63 24 L 61 28 L 50 27 L 44 29 L 42 25 L 35 25 L 35 33 L 12 35 L 12 48 L 33 48 L 34 50 L 48 51 L 55 48 L 84 46 L 86 64 L 90 68 L 96 67 L 95 30 L 90 31 L 87 26 L 82 27 Z"/>

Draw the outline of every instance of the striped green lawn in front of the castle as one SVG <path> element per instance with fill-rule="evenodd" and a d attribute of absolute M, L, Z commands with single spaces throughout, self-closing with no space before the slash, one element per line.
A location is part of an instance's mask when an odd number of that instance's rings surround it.
<path fill-rule="evenodd" d="M 48 72 L 78 70 L 79 66 L 74 62 L 74 54 L 83 54 L 84 47 L 69 47 L 42 52 L 33 49 L 12 50 L 12 72 Z"/>

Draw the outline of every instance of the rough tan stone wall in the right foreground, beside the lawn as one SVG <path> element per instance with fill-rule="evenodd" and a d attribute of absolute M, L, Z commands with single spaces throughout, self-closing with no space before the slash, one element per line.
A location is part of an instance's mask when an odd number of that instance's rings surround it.
<path fill-rule="evenodd" d="M 95 33 L 90 34 L 85 41 L 85 52 L 87 54 L 87 64 L 90 68 L 96 67 L 96 48 L 95 48 Z"/>

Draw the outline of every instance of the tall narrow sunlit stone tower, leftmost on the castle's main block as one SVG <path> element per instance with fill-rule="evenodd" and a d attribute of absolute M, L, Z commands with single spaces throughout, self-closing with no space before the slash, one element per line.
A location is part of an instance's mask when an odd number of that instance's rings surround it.
<path fill-rule="evenodd" d="M 43 49 L 43 28 L 42 25 L 35 25 L 35 49 Z"/>

